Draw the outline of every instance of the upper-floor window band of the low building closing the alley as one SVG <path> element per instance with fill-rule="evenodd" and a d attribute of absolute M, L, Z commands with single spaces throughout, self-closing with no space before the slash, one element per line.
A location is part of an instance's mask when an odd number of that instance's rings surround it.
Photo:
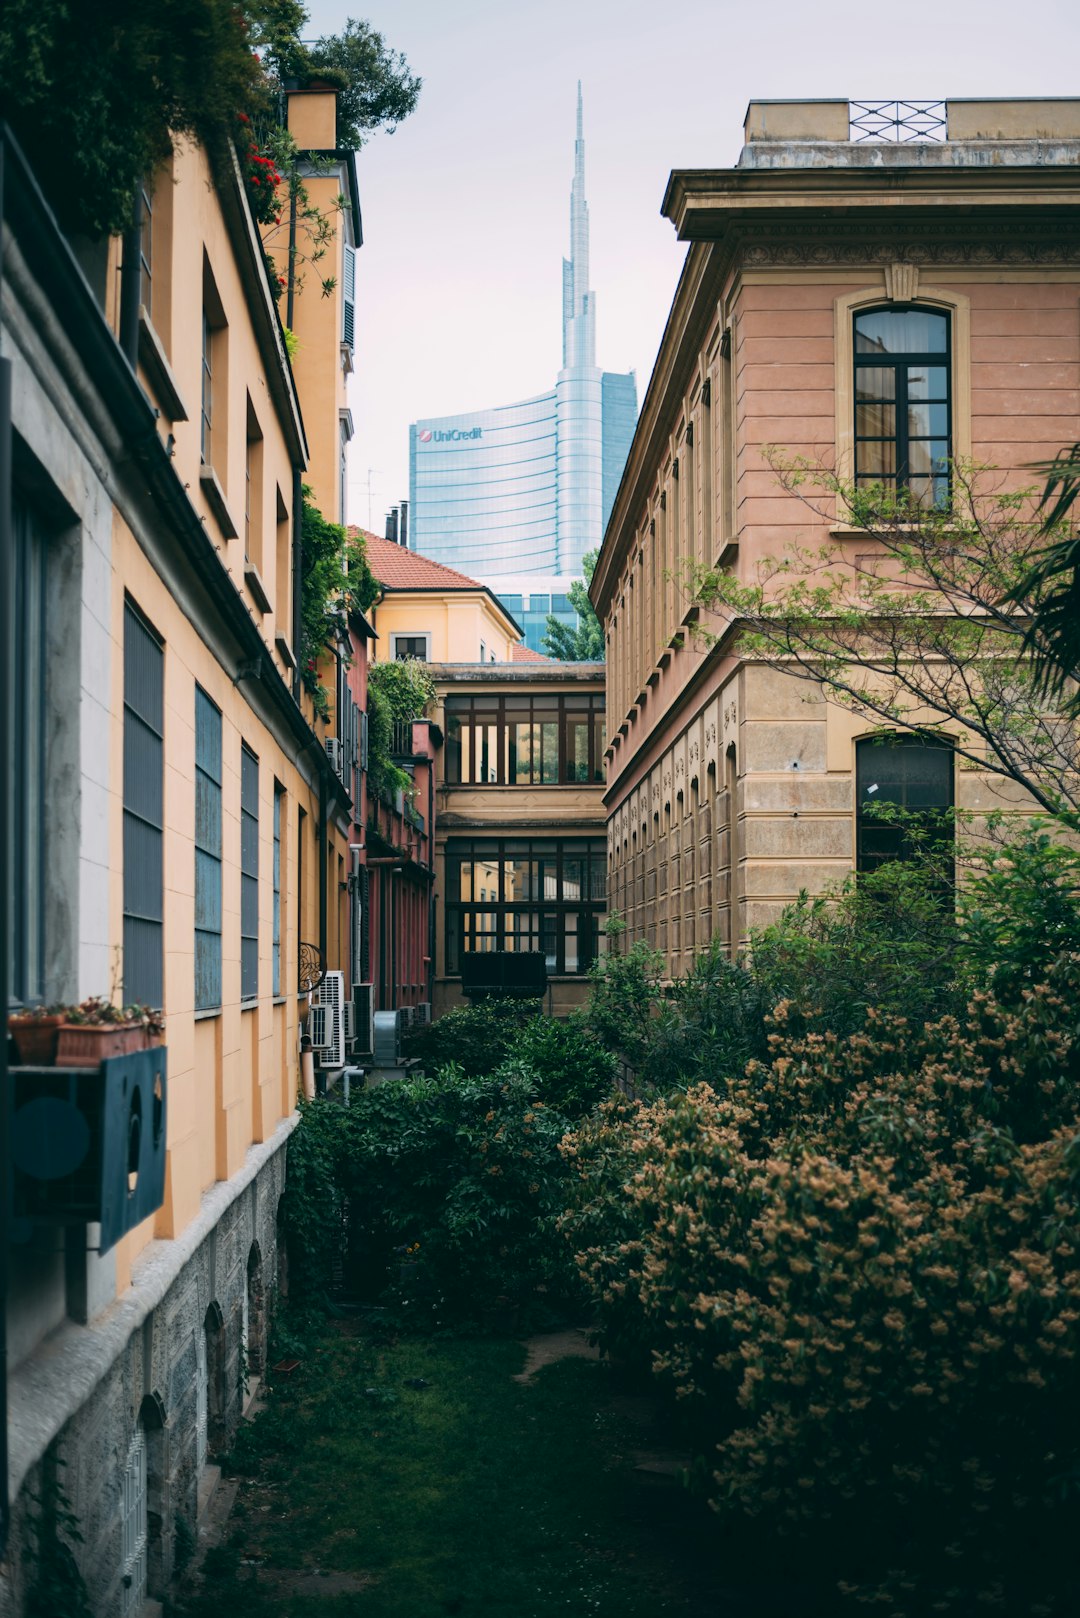
<path fill-rule="evenodd" d="M 604 780 L 604 697 L 447 697 L 449 785 L 557 786 Z"/>

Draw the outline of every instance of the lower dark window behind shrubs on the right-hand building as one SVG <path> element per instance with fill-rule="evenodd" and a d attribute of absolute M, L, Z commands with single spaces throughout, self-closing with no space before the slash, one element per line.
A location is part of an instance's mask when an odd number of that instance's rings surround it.
<path fill-rule="evenodd" d="M 912 859 L 920 846 L 954 840 L 954 765 L 947 741 L 923 736 L 866 736 L 855 743 L 855 866 L 878 870 Z M 902 814 L 878 815 L 879 804 Z"/>

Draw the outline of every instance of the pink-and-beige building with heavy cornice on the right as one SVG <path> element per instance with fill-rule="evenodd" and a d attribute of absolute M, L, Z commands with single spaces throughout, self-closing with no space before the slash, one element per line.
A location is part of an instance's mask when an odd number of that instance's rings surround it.
<path fill-rule="evenodd" d="M 1077 437 L 1080 104 L 949 102 L 913 146 L 861 144 L 850 116 L 751 104 L 738 165 L 677 172 L 664 199 L 690 251 L 591 597 L 609 904 L 672 976 L 873 859 L 874 725 L 740 657 L 687 589 L 688 565 L 751 582 L 789 544 L 865 549 L 845 511 L 779 487 L 766 447 L 933 503 L 950 461 L 1015 487 Z M 978 764 L 891 751 L 942 807 L 1017 801 Z"/>

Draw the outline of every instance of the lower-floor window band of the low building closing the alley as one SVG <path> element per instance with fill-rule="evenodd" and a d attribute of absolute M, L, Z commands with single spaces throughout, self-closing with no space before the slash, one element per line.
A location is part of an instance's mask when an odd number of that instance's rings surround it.
<path fill-rule="evenodd" d="M 447 972 L 486 950 L 541 950 L 552 976 L 596 959 L 607 893 L 604 838 L 450 838 Z"/>

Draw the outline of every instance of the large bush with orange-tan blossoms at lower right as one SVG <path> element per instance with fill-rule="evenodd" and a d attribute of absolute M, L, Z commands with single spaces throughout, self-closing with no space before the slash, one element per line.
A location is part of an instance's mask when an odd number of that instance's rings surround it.
<path fill-rule="evenodd" d="M 1070 955 L 923 1029 L 792 1037 L 780 1008 L 722 1092 L 609 1103 L 565 1144 L 606 1340 L 691 1408 L 716 1511 L 806 1532 L 892 1613 L 1057 1610 L 1077 1003 Z"/>

